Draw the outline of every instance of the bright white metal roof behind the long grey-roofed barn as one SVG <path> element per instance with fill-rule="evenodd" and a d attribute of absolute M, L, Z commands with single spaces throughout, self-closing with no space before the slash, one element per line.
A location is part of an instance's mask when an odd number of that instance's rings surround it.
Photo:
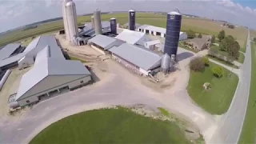
<path fill-rule="evenodd" d="M 143 33 L 138 32 L 138 31 L 123 30 L 115 38 L 134 45 L 134 44 L 136 44 L 136 42 L 140 41 L 144 36 L 146 36 L 146 34 L 143 34 Z"/>

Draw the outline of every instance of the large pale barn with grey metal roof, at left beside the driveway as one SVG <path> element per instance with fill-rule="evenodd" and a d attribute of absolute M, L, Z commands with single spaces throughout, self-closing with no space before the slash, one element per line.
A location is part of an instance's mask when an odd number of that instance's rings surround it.
<path fill-rule="evenodd" d="M 49 37 L 48 40 L 54 41 L 55 38 Z M 90 71 L 82 62 L 66 60 L 57 44 L 46 45 L 44 48 L 36 47 L 30 50 L 30 52 L 34 51 L 31 52 L 31 56 L 38 51 L 34 57 L 34 66 L 22 75 L 17 94 L 12 94 L 9 98 L 10 107 L 39 102 L 84 86 L 91 81 Z"/>

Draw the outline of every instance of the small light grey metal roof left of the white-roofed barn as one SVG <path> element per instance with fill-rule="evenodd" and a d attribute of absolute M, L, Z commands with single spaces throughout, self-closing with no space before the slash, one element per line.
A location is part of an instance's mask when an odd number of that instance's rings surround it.
<path fill-rule="evenodd" d="M 111 45 L 113 42 L 116 42 L 116 41 L 117 41 L 117 39 L 115 39 L 115 38 L 110 38 L 105 35 L 98 34 L 94 38 L 90 38 L 90 40 L 88 42 L 89 43 L 93 42 L 93 43 L 97 44 L 98 46 L 101 46 L 105 50 L 107 48 L 107 46 Z"/>

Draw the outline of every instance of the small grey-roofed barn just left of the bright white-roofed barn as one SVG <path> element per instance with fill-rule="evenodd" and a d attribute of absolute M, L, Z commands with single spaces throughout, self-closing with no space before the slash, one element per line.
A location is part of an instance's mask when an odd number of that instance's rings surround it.
<path fill-rule="evenodd" d="M 112 46 L 120 46 L 124 42 L 116 38 L 110 38 L 105 35 L 98 34 L 94 38 L 91 38 L 88 43 L 94 43 L 101 46 L 104 50 L 109 50 Z"/>

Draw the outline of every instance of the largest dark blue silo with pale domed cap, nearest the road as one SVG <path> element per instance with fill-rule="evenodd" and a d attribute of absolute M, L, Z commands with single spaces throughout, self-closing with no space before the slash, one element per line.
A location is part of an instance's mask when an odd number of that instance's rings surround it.
<path fill-rule="evenodd" d="M 181 31 L 182 14 L 177 11 L 172 11 L 167 14 L 166 22 L 166 41 L 163 53 L 168 54 L 170 57 L 172 54 L 177 54 L 178 39 Z"/>

